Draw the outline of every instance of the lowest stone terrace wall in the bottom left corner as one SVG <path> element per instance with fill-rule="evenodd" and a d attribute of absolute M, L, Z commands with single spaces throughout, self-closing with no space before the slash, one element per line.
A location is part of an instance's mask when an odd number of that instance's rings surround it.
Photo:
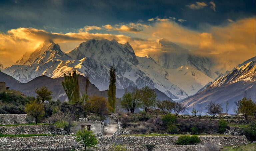
<path fill-rule="evenodd" d="M 0 150 L 71 150 L 81 147 L 74 136 L 0 137 Z"/>

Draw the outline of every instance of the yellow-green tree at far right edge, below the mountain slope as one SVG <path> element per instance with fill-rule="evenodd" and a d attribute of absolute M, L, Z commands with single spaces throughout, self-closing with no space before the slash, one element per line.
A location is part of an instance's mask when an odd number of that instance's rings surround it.
<path fill-rule="evenodd" d="M 244 96 L 242 100 L 235 102 L 238 107 L 239 113 L 241 113 L 247 120 L 248 116 L 253 116 L 256 112 L 256 103 L 251 98 Z"/>

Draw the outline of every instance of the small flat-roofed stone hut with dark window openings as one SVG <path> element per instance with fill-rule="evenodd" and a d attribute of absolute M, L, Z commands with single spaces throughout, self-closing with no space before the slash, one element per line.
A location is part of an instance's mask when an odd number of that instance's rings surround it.
<path fill-rule="evenodd" d="M 74 121 L 75 126 L 70 128 L 71 133 L 76 133 L 78 130 L 87 129 L 93 131 L 94 134 L 104 134 L 104 123 L 101 121 Z"/>

